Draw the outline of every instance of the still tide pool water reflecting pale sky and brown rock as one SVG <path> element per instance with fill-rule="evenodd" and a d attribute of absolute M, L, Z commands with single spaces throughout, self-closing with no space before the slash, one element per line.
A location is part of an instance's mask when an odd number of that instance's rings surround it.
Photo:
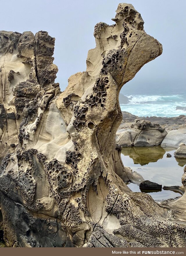
<path fill-rule="evenodd" d="M 167 157 L 169 152 L 172 157 Z M 125 166 L 140 173 L 145 180 L 156 182 L 163 186 L 181 186 L 183 166 L 185 159 L 174 157 L 174 148 L 154 147 L 126 147 L 122 148 L 121 158 Z M 128 187 L 134 192 L 140 192 L 139 186 L 130 183 Z M 144 191 L 147 192 L 147 191 Z M 179 193 L 170 190 L 159 192 L 148 191 L 155 200 L 164 200 L 180 196 Z"/>

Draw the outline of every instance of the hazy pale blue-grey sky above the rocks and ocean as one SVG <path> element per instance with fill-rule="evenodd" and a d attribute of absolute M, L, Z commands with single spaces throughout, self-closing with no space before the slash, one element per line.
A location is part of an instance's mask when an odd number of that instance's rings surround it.
<path fill-rule="evenodd" d="M 94 25 L 113 24 L 119 0 L 8 0 L 1 2 L 0 30 L 48 31 L 56 38 L 54 63 L 61 90 L 68 78 L 86 70 L 89 49 L 95 47 Z M 128 0 L 141 13 L 144 30 L 163 45 L 163 53 L 147 63 L 121 89 L 130 94 L 183 94 L 186 81 L 186 1 Z"/>

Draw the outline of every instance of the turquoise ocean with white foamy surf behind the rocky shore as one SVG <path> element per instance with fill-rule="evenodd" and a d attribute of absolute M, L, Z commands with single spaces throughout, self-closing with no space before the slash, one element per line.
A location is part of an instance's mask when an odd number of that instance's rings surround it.
<path fill-rule="evenodd" d="M 186 115 L 186 111 L 176 110 L 176 106 L 186 107 L 185 95 L 126 95 L 128 104 L 120 104 L 122 111 L 138 117 L 176 117 Z"/>

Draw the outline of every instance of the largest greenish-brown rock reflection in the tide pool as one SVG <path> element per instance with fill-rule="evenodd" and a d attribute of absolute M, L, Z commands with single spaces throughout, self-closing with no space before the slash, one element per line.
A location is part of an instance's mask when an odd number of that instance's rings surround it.
<path fill-rule="evenodd" d="M 134 164 L 146 165 L 157 162 L 163 158 L 165 150 L 161 146 L 155 147 L 127 147 L 122 148 L 121 153 L 133 159 Z"/>

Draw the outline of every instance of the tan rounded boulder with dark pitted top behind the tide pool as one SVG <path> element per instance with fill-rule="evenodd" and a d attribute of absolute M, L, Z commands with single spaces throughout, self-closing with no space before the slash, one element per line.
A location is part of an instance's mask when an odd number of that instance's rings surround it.
<path fill-rule="evenodd" d="M 157 146 L 167 132 L 159 124 L 146 120 L 135 120 L 130 129 L 121 129 L 116 133 L 116 143 L 121 146 Z"/>

